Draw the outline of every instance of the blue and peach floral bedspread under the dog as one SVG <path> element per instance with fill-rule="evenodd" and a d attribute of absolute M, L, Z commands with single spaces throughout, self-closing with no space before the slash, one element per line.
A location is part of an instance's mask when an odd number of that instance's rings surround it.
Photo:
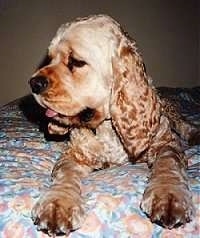
<path fill-rule="evenodd" d="M 180 102 L 184 116 L 200 126 L 200 88 L 160 90 Z M 48 237 L 37 231 L 30 211 L 40 192 L 50 185 L 51 169 L 66 142 L 44 136 L 41 128 L 45 119 L 41 119 L 40 110 L 31 97 L 0 109 L 0 238 Z M 188 174 L 196 207 L 191 223 L 172 230 L 152 224 L 139 208 L 148 169 L 145 164 L 125 164 L 97 171 L 82 181 L 87 217 L 82 228 L 69 237 L 199 237 L 200 146 L 188 148 L 186 153 L 190 157 Z"/>

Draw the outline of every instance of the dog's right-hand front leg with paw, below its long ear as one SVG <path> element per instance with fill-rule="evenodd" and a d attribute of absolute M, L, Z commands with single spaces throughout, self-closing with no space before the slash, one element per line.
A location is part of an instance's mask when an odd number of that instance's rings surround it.
<path fill-rule="evenodd" d="M 141 208 L 152 222 L 169 229 L 191 221 L 194 208 L 182 153 L 170 146 L 161 150 L 153 163 Z"/>

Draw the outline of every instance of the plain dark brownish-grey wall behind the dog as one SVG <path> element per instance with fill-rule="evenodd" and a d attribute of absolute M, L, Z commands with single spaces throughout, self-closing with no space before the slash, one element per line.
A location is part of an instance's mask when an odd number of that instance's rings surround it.
<path fill-rule="evenodd" d="M 60 24 L 106 13 L 136 39 L 154 84 L 200 84 L 198 0 L 0 0 L 0 105 L 27 81 Z M 200 38 L 200 37 L 199 37 Z"/>

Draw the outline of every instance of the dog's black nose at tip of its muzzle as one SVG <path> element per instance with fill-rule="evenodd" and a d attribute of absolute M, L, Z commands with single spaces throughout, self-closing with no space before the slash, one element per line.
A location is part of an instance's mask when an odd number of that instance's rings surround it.
<path fill-rule="evenodd" d="M 30 79 L 29 84 L 33 93 L 40 94 L 45 91 L 48 86 L 48 79 L 39 75 Z"/>

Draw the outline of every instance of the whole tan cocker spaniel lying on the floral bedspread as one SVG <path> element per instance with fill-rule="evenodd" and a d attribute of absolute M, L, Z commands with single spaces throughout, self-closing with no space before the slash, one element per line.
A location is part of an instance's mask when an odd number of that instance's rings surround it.
<path fill-rule="evenodd" d="M 151 168 L 141 208 L 152 222 L 171 229 L 191 221 L 186 156 L 171 125 L 185 138 L 195 129 L 170 117 L 173 106 L 160 100 L 135 41 L 111 17 L 89 16 L 62 25 L 48 54 L 29 83 L 51 119 L 49 133 L 70 132 L 70 142 L 32 210 L 38 229 L 55 236 L 79 228 L 81 179 L 127 161 Z"/>

